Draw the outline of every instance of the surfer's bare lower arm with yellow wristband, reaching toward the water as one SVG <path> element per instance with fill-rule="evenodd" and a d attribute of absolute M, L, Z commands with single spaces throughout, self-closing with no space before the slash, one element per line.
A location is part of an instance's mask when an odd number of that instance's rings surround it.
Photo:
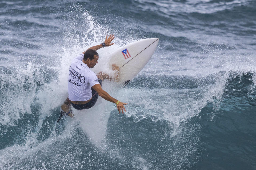
<path fill-rule="evenodd" d="M 99 96 L 101 96 L 103 99 L 107 100 L 107 101 L 111 101 L 112 103 L 117 103 L 118 100 L 111 97 L 107 92 L 105 92 L 102 88 L 101 88 L 101 85 L 100 84 L 95 84 L 94 86 L 92 86 L 92 88 L 99 94 Z M 122 113 L 123 113 L 123 110 L 126 112 L 125 110 L 125 107 L 123 105 L 125 105 L 127 103 L 123 103 L 121 101 L 119 101 L 119 103 L 117 104 L 117 110 L 119 111 L 119 113 L 121 112 L 122 110 Z"/>

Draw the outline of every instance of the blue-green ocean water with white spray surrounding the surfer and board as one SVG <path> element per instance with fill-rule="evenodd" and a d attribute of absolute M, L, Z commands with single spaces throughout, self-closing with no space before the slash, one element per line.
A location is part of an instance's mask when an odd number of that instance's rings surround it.
<path fill-rule="evenodd" d="M 256 1 L 0 1 L 0 169 L 256 169 Z M 56 128 L 76 54 L 159 38 L 126 87 Z M 58 125 L 57 125 L 58 126 Z"/>

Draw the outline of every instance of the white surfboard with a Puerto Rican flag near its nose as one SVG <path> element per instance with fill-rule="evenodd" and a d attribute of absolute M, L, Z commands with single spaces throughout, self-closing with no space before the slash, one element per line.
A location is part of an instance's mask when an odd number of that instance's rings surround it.
<path fill-rule="evenodd" d="M 109 68 L 112 68 L 112 64 L 120 68 L 120 84 L 126 85 L 144 68 L 157 48 L 158 41 L 158 38 L 139 40 L 110 55 Z"/>

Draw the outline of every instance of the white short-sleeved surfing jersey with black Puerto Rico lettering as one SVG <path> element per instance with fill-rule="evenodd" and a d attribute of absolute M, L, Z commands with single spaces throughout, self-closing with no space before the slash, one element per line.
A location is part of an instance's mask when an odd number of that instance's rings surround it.
<path fill-rule="evenodd" d="M 69 100 L 86 101 L 91 99 L 91 86 L 99 84 L 98 77 L 83 63 L 83 55 L 75 57 L 69 67 Z"/>

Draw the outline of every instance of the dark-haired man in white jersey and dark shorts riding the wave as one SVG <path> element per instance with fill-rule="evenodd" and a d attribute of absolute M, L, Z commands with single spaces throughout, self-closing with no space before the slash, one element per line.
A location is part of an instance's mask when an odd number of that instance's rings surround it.
<path fill-rule="evenodd" d="M 61 105 L 61 115 L 58 121 L 64 114 L 73 117 L 71 105 L 73 108 L 78 110 L 89 109 L 95 105 L 98 96 L 101 96 L 103 99 L 115 103 L 119 113 L 121 113 L 121 111 L 122 113 L 123 111 L 126 112 L 124 105 L 127 103 L 123 103 L 111 97 L 101 88 L 102 80 L 104 79 L 118 82 L 119 67 L 115 64 L 112 65 L 112 69 L 115 71 L 114 77 L 111 77 L 102 71 L 96 75 L 93 71 L 90 70 L 90 68 L 93 68 L 98 63 L 99 54 L 96 52 L 96 50 L 104 48 L 105 46 L 108 47 L 113 45 L 114 43 L 111 43 L 111 41 L 114 38 L 114 35 L 110 35 L 109 37 L 106 36 L 104 43 L 90 47 L 72 60 L 69 67 L 69 96 Z"/>

